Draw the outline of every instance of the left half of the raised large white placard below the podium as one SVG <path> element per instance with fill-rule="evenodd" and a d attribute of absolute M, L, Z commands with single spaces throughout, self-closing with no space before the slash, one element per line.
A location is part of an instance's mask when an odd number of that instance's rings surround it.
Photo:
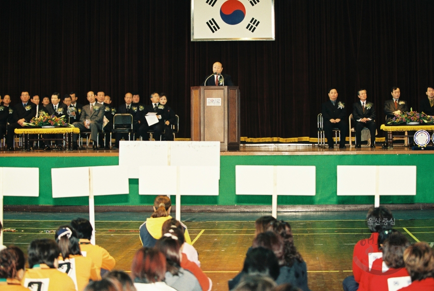
<path fill-rule="evenodd" d="M 119 165 L 128 168 L 128 177 L 130 179 L 139 178 L 140 166 L 168 165 L 167 157 L 167 141 L 119 141 Z"/>

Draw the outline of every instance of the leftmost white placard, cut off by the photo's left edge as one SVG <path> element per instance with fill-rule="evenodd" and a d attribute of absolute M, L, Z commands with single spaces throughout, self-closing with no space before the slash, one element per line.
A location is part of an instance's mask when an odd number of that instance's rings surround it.
<path fill-rule="evenodd" d="M 3 167 L 3 196 L 39 197 L 39 168 Z"/>

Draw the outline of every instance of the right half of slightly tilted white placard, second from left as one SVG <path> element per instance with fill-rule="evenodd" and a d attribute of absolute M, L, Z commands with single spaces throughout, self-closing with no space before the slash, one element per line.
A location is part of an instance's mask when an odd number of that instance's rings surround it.
<path fill-rule="evenodd" d="M 130 193 L 126 166 L 94 166 L 90 169 L 93 174 L 94 196 Z"/>

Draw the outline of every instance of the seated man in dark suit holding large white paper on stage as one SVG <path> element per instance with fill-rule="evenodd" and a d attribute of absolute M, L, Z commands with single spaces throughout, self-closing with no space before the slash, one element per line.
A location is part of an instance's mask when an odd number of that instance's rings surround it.
<path fill-rule="evenodd" d="M 151 104 L 145 106 L 144 110 L 135 112 L 134 120 L 139 123 L 139 134 L 142 139 L 148 139 L 148 130 L 154 131 L 155 140 L 160 140 L 164 130 L 164 106 L 160 104 L 160 95 L 154 92 L 150 95 Z"/>

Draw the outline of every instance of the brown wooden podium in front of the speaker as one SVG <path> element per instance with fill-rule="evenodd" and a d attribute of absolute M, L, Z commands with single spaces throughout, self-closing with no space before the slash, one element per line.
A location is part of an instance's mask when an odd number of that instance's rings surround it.
<path fill-rule="evenodd" d="M 220 141 L 220 151 L 239 151 L 238 86 L 198 86 L 190 92 L 191 140 Z"/>

